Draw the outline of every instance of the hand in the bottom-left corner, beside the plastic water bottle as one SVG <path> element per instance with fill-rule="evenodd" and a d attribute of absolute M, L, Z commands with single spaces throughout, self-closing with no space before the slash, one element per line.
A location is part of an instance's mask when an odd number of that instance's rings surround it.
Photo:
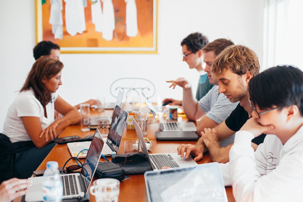
<path fill-rule="evenodd" d="M 0 184 L 0 202 L 9 202 L 23 196 L 29 191 L 30 186 L 32 186 L 32 181 L 17 178 L 2 182 Z"/>

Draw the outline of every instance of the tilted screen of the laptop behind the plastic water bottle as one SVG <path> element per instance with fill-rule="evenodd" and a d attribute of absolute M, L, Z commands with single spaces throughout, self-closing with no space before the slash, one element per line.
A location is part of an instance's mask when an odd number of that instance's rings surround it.
<path fill-rule="evenodd" d="M 88 149 L 83 167 L 81 169 L 81 175 L 84 178 L 86 193 L 88 193 L 88 187 L 92 182 L 92 178 L 96 172 L 104 142 L 98 129 L 95 131 L 95 135 L 92 139 L 92 143 Z"/>

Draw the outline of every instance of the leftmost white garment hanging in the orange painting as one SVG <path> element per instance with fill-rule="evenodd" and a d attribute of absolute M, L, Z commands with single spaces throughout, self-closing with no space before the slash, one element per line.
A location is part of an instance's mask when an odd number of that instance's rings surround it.
<path fill-rule="evenodd" d="M 49 16 L 49 24 L 52 25 L 52 33 L 55 39 L 63 38 L 62 9 L 62 0 L 51 0 L 51 14 Z"/>

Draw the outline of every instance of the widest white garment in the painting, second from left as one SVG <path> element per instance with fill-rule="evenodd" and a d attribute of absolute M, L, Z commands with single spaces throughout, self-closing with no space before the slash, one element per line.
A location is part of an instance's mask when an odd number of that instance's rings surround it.
<path fill-rule="evenodd" d="M 75 36 L 86 30 L 83 0 L 64 0 L 65 24 L 68 34 Z"/>

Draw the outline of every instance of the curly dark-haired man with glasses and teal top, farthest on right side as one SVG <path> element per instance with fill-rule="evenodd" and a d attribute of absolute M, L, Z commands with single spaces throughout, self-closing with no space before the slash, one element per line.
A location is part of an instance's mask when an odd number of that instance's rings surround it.
<path fill-rule="evenodd" d="M 195 32 L 188 35 L 181 41 L 183 61 L 188 64 L 190 69 L 195 68 L 200 79 L 198 83 L 196 99 L 200 100 L 214 85 L 209 82 L 207 73 L 202 67 L 201 57 L 203 55 L 202 48 L 208 43 L 208 39 L 201 33 Z M 171 101 L 171 105 L 182 105 L 181 100 L 166 98 L 162 102 Z"/>

